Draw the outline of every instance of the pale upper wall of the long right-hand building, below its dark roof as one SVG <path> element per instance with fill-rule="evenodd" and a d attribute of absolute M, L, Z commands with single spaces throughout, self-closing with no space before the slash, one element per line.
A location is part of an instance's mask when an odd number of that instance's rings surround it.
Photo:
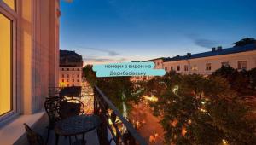
<path fill-rule="evenodd" d="M 182 61 L 166 61 L 163 63 L 163 68 L 167 68 L 168 72 L 171 71 L 171 67 L 173 67 L 173 70 L 177 73 L 197 73 L 202 75 L 208 75 L 219 69 L 222 66 L 222 62 L 228 62 L 230 67 L 238 68 L 238 61 L 247 61 L 247 70 L 255 68 L 256 50 L 230 55 L 217 55 Z M 211 64 L 211 70 L 206 70 L 207 63 Z M 189 66 L 188 71 L 184 71 L 185 65 Z M 177 66 L 180 66 L 180 71 L 177 71 Z M 193 70 L 193 67 L 197 67 L 197 70 Z"/>

